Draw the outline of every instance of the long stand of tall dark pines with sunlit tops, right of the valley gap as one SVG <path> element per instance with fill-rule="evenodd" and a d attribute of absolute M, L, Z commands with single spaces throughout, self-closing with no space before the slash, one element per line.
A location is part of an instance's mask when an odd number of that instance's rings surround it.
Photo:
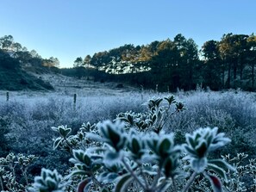
<path fill-rule="evenodd" d="M 158 85 L 159 90 L 192 90 L 197 84 L 211 90 L 255 90 L 255 63 L 254 34 L 224 34 L 219 41 L 206 41 L 201 49 L 194 40 L 178 34 L 173 40 L 124 45 L 80 57 L 74 61 L 74 68 L 78 77 L 88 73 L 85 67 L 101 71 L 94 73 L 97 79 L 126 81 L 146 88 Z"/>

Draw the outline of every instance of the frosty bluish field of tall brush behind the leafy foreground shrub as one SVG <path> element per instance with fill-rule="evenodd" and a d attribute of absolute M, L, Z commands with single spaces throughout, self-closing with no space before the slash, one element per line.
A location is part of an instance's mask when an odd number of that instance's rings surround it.
<path fill-rule="evenodd" d="M 70 154 L 53 151 L 53 139 L 58 134 L 51 127 L 64 125 L 77 133 L 83 123 L 91 124 L 114 120 L 116 115 L 133 111 L 144 112 L 150 98 L 174 95 L 183 102 L 184 111 L 172 115 L 165 123 L 165 133 L 175 133 L 176 142 L 184 141 L 184 133 L 192 133 L 198 127 L 219 127 L 232 141 L 222 148 L 222 154 L 245 152 L 256 158 L 255 125 L 256 94 L 241 90 L 215 92 L 200 90 L 176 93 L 155 91 L 112 90 L 88 94 L 78 91 L 74 103 L 74 91 L 65 92 L 6 92 L 0 95 L 0 128 L 3 134 L 0 155 L 34 154 L 39 157 L 29 168 L 29 179 L 40 175 L 42 167 L 65 173 Z M 218 153 L 217 152 L 217 153 Z"/>

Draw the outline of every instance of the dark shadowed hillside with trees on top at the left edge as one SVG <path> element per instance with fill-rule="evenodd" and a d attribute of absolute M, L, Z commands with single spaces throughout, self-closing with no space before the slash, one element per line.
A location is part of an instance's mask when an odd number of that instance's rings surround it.
<path fill-rule="evenodd" d="M 11 35 L 0 38 L 0 90 L 53 90 L 51 84 L 28 74 L 28 69 L 48 72 L 58 64 L 56 58 L 42 59 L 34 50 L 28 52 Z"/>

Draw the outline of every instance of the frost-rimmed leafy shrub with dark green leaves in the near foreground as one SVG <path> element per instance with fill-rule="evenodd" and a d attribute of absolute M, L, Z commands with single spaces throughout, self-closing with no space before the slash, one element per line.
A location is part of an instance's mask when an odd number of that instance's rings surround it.
<path fill-rule="evenodd" d="M 150 100 L 146 113 L 123 113 L 116 121 L 84 124 L 72 135 L 69 127 L 59 133 L 54 149 L 70 152 L 74 166 L 66 177 L 57 170 L 41 170 L 28 191 L 246 191 L 241 177 L 253 174 L 254 161 L 234 164 L 228 156 L 209 158 L 230 139 L 217 128 L 199 128 L 175 144 L 173 133 L 164 133 L 165 122 L 184 105 L 173 96 Z M 236 159 L 242 160 L 242 155 Z M 255 181 L 253 180 L 253 183 Z M 210 187 L 211 186 L 211 187 Z M 253 184 L 250 186 L 253 188 Z M 2 188 L 3 189 L 3 188 Z"/>

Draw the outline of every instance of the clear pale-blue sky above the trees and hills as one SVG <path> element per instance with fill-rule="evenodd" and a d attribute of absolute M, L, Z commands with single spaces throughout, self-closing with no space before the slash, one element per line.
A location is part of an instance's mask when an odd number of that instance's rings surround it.
<path fill-rule="evenodd" d="M 199 47 L 222 34 L 255 34 L 255 7 L 255 0 L 0 0 L 0 37 L 11 34 L 72 67 L 77 57 L 176 34 Z"/>

